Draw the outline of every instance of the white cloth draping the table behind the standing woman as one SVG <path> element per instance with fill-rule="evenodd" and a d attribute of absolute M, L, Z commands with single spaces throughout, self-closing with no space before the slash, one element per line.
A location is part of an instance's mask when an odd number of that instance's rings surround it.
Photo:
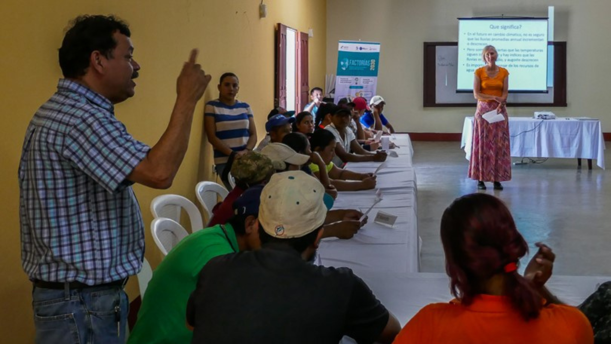
<path fill-rule="evenodd" d="M 464 119 L 461 148 L 467 160 L 471 157 L 473 117 Z M 605 141 L 601 122 L 577 119 L 509 118 L 512 157 L 546 157 L 596 159 L 596 165 L 605 168 Z"/>

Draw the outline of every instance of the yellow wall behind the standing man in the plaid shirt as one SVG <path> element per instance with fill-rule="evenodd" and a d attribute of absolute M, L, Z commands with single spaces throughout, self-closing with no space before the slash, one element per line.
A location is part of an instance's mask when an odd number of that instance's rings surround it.
<path fill-rule="evenodd" d="M 218 96 L 223 72 L 240 77 L 238 98 L 251 104 L 258 135 L 263 137 L 266 115 L 274 99 L 274 26 L 281 22 L 307 32 L 310 39 L 310 82 L 324 84 L 326 70 L 326 0 L 265 0 L 268 16 L 258 17 L 258 0 L 174 1 L 16 1 L 2 3 L 0 21 L 0 333 L 4 343 L 31 343 L 34 338 L 31 284 L 21 269 L 17 166 L 24 131 L 38 106 L 53 94 L 61 77 L 57 63 L 64 28 L 82 13 L 113 13 L 128 21 L 142 66 L 136 96 L 116 107 L 128 131 L 150 145 L 166 128 L 175 100 L 175 80 L 193 47 L 199 62 L 213 75 L 204 100 Z M 197 181 L 210 179 L 211 149 L 202 130 L 203 102 L 196 109 L 189 150 L 169 190 L 136 186 L 144 222 L 150 223 L 150 201 L 162 193 L 177 193 L 196 201 Z M 146 226 L 146 257 L 156 266 L 161 259 Z M 128 293 L 137 295 L 132 279 Z"/>

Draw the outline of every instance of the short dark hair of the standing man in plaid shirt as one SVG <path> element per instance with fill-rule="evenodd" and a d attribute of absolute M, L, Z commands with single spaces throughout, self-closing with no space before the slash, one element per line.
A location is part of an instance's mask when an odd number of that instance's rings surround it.
<path fill-rule="evenodd" d="M 100 51 L 106 58 L 112 58 L 117 41 L 114 32 L 130 37 L 128 24 L 112 15 L 81 15 L 71 21 L 59 48 L 59 67 L 65 78 L 78 78 L 89 68 L 93 51 Z"/>

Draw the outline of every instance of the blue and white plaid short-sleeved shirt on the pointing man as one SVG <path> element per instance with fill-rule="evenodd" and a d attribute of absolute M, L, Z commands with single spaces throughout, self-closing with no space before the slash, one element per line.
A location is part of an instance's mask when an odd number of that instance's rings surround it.
<path fill-rule="evenodd" d="M 98 285 L 140 271 L 144 226 L 126 176 L 149 149 L 108 99 L 59 80 L 27 127 L 19 164 L 21 261 L 31 280 Z"/>

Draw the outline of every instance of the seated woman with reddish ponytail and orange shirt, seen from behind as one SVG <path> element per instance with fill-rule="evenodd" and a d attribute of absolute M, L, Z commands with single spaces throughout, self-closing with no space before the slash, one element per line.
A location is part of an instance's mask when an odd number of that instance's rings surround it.
<path fill-rule="evenodd" d="M 441 219 L 441 241 L 456 299 L 422 308 L 394 343 L 593 343 L 588 319 L 543 286 L 555 257 L 549 247 L 537 244 L 518 274 L 528 245 L 498 198 L 456 199 Z"/>

